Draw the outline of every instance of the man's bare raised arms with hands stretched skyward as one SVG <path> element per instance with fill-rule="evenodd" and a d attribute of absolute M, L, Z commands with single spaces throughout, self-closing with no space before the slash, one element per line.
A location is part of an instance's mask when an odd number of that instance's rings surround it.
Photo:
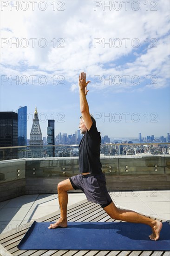
<path fill-rule="evenodd" d="M 87 130 L 89 131 L 92 126 L 92 119 L 89 112 L 89 105 L 86 99 L 86 95 L 88 93 L 87 85 L 90 83 L 90 81 L 86 80 L 86 74 L 84 72 L 81 72 L 79 75 L 79 95 L 80 95 L 80 111 L 83 116 L 83 120 L 85 121 L 85 126 Z"/>

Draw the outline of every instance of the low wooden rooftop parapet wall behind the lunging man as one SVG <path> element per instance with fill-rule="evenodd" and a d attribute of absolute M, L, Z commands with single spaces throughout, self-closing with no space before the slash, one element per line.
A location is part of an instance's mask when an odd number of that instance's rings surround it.
<path fill-rule="evenodd" d="M 110 191 L 170 189 L 169 155 L 105 157 L 101 163 Z M 0 201 L 25 194 L 57 193 L 60 181 L 78 173 L 78 157 L 1 161 Z"/>

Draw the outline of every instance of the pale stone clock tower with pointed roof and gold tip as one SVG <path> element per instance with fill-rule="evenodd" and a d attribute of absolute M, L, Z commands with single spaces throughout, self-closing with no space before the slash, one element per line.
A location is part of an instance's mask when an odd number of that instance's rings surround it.
<path fill-rule="evenodd" d="M 38 112 L 37 107 L 34 111 L 34 118 L 33 118 L 33 125 L 30 133 L 30 147 L 32 157 L 43 157 L 44 156 L 44 150 L 43 150 L 43 140 L 42 140 L 42 133 L 41 128 L 39 125 L 39 118 L 38 118 Z"/>

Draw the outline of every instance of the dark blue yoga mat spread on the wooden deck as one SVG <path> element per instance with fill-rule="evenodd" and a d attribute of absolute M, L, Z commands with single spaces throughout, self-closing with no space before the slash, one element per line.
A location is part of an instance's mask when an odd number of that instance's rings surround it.
<path fill-rule="evenodd" d="M 55 222 L 33 222 L 18 245 L 20 250 L 170 250 L 170 225 L 163 222 L 160 239 L 148 237 L 145 224 L 129 222 L 68 222 L 67 228 L 48 229 Z"/>

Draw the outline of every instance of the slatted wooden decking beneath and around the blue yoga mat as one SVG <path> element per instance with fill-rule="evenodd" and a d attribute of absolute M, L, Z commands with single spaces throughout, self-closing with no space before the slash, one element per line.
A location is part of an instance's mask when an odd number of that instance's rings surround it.
<path fill-rule="evenodd" d="M 38 219 L 37 222 L 56 221 L 59 216 L 60 211 L 56 211 Z M 111 219 L 101 206 L 86 199 L 68 207 L 67 216 L 68 221 L 71 222 L 121 222 Z M 10 232 L 2 234 L 0 239 L 2 247 L 13 256 L 170 256 L 170 252 L 165 251 L 19 250 L 17 246 L 32 223 L 33 221 L 21 225 L 14 234 Z"/>

